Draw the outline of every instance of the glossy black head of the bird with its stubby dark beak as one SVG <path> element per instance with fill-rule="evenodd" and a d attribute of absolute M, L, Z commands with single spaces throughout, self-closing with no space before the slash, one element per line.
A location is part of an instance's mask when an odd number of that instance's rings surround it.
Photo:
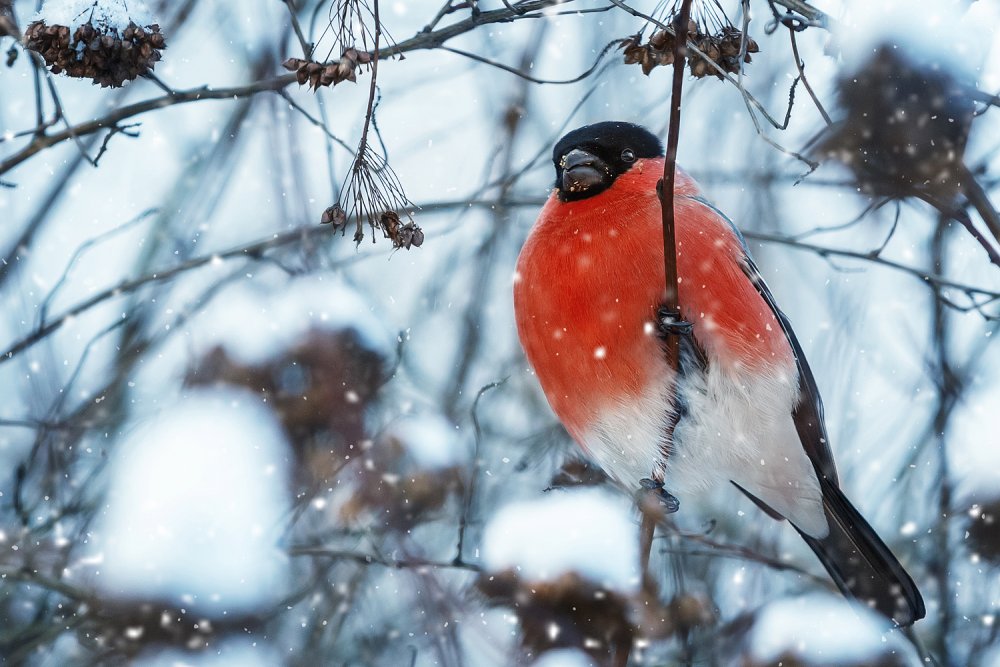
<path fill-rule="evenodd" d="M 636 160 L 663 156 L 663 144 L 646 128 L 621 121 L 594 123 L 573 130 L 556 143 L 552 162 L 556 190 L 563 201 L 604 192 Z"/>

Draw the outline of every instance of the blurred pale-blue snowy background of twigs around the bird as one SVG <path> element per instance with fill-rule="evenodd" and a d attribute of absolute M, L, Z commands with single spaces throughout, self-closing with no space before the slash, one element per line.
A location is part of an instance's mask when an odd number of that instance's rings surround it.
<path fill-rule="evenodd" d="M 795 326 L 907 632 L 735 490 L 643 581 L 517 342 L 552 145 L 666 135 L 675 6 L 42 4 L 0 1 L 0 662 L 1000 665 L 998 3 L 694 0 L 759 51 L 685 77 L 679 164 Z"/>

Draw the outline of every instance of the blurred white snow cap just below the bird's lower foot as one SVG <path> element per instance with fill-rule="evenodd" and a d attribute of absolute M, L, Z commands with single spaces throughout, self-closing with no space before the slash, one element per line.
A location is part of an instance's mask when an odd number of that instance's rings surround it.
<path fill-rule="evenodd" d="M 639 587 L 639 545 L 632 506 L 600 489 L 553 492 L 497 512 L 483 535 L 483 565 L 531 581 L 576 572 L 610 590 Z"/>

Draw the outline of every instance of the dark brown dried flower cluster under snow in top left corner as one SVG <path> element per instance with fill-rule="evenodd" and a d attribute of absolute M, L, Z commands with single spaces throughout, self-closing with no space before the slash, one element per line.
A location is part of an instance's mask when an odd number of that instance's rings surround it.
<path fill-rule="evenodd" d="M 166 47 L 159 25 L 142 27 L 134 22 L 121 34 L 113 27 L 90 22 L 70 34 L 67 26 L 35 21 L 28 26 L 24 43 L 42 56 L 53 74 L 65 72 L 112 88 L 153 69 Z"/>

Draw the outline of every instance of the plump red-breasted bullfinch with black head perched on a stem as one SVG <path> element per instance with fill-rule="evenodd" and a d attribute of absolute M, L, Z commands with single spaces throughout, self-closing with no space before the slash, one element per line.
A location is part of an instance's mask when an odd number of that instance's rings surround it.
<path fill-rule="evenodd" d="M 922 618 L 913 580 L 840 490 L 802 347 L 733 223 L 677 170 L 685 332 L 662 313 L 660 141 L 597 123 L 563 137 L 553 162 L 555 189 L 517 261 L 514 311 L 573 439 L 631 490 L 654 471 L 667 500 L 735 484 L 791 522 L 845 595 L 899 625 Z M 665 353 L 672 335 L 678 372 Z"/>

